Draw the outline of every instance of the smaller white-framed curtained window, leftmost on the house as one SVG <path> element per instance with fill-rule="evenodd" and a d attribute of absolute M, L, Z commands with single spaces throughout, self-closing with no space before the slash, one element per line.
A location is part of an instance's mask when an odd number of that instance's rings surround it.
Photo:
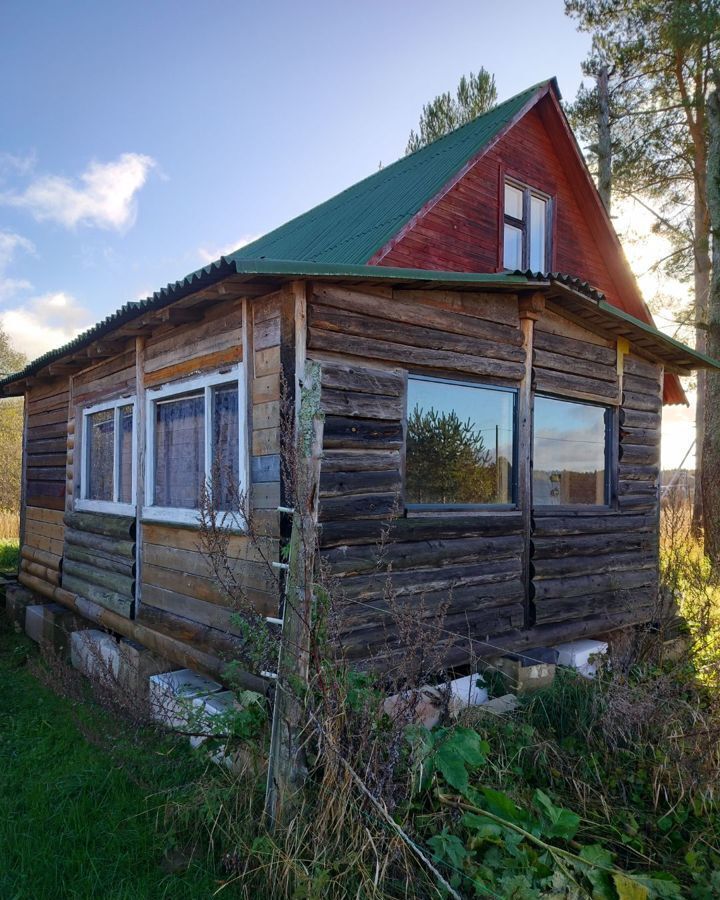
<path fill-rule="evenodd" d="M 78 509 L 135 513 L 135 401 L 83 410 Z"/>

